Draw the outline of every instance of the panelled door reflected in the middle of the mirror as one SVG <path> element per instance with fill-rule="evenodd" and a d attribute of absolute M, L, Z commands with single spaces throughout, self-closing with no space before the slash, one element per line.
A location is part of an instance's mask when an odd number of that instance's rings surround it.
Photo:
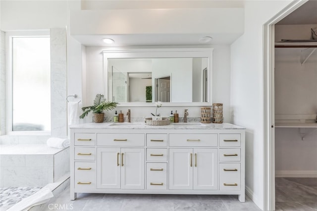
<path fill-rule="evenodd" d="M 156 102 L 170 102 L 170 76 L 160 77 L 155 79 Z"/>

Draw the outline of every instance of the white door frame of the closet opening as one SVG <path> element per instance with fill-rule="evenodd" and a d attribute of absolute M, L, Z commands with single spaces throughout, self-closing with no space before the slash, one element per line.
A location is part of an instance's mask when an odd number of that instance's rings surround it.
<path fill-rule="evenodd" d="M 274 25 L 308 0 L 293 0 L 263 26 L 264 211 L 275 210 Z"/>

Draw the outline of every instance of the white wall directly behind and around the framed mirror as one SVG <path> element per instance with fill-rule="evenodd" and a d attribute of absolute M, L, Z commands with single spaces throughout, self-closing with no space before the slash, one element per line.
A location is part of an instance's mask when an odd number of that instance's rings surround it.
<path fill-rule="evenodd" d="M 212 103 L 222 103 L 223 104 L 223 116 L 225 122 L 230 122 L 230 47 L 228 45 L 213 45 L 209 46 L 213 48 L 212 56 Z M 155 47 L 154 47 L 155 48 Z M 185 47 L 188 48 L 188 47 Z M 193 48 L 197 48 L 193 47 Z M 93 102 L 97 93 L 104 93 L 103 86 L 103 53 L 104 47 L 86 47 L 86 98 L 83 98 L 83 106 L 89 106 Z M 129 108 L 131 109 L 132 117 L 144 117 L 150 116 L 151 112 L 154 112 L 154 106 L 146 107 L 122 107 L 118 106 L 118 110 L 126 112 Z M 187 107 L 177 107 L 177 106 L 162 106 L 160 113 L 162 115 L 168 116 L 170 111 L 177 110 L 180 116 L 184 115 L 184 109 L 188 108 L 189 117 L 199 117 L 200 116 L 200 106 L 187 106 Z M 114 110 L 107 111 L 106 115 L 112 116 Z M 85 121 L 91 121 L 88 117 Z"/>

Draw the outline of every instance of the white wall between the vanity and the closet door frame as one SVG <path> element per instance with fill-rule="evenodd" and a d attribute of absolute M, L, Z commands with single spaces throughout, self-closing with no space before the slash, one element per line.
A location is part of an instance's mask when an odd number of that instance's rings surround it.
<path fill-rule="evenodd" d="M 245 1 L 245 31 L 231 45 L 233 122 L 246 127 L 247 194 L 264 209 L 263 24 L 291 0 Z"/>

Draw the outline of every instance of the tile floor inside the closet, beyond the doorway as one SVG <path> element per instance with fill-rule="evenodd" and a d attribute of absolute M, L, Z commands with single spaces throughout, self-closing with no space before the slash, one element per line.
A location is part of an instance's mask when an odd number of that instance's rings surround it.
<path fill-rule="evenodd" d="M 275 178 L 276 211 L 317 211 L 317 178 Z"/>

